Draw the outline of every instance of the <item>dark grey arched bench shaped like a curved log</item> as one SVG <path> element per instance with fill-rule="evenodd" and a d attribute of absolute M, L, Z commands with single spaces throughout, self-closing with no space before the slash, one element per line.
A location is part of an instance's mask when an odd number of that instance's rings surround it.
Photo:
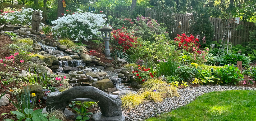
<path fill-rule="evenodd" d="M 90 86 L 73 87 L 58 95 L 49 96 L 46 101 L 46 111 L 49 112 L 55 109 L 64 111 L 70 100 L 81 98 L 99 101 L 98 105 L 101 109 L 102 116 L 114 117 L 122 115 L 122 101 L 119 97 L 108 95 L 103 91 Z M 121 117 L 124 116 L 122 115 Z"/>

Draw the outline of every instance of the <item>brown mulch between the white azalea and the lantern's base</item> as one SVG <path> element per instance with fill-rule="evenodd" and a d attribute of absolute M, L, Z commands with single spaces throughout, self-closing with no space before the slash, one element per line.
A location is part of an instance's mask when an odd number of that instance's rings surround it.
<path fill-rule="evenodd" d="M 98 45 L 92 41 L 88 41 L 88 42 L 84 41 L 83 44 L 90 45 L 92 47 L 92 49 L 90 49 L 90 51 L 91 50 L 96 51 L 97 52 L 96 57 L 100 58 L 99 59 L 100 61 L 105 62 L 105 63 L 111 63 L 113 61 L 113 60 L 106 59 L 105 54 L 102 53 L 102 49 L 104 49 L 103 43 Z M 90 52 L 88 52 L 88 53 L 90 53 Z"/>

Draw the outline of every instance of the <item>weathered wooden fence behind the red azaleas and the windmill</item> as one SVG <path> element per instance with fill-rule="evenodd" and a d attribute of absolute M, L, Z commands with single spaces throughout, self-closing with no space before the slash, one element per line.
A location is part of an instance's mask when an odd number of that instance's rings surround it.
<path fill-rule="evenodd" d="M 110 15 L 113 18 L 120 18 L 121 15 L 123 15 L 125 12 L 129 13 L 130 6 L 119 6 L 119 7 L 102 7 L 102 11 L 104 11 L 104 14 L 106 16 Z M 156 19 L 156 14 L 157 11 L 155 9 L 151 8 L 137 8 L 138 14 L 144 16 L 144 17 L 150 17 L 152 19 Z M 165 16 L 165 14 L 162 14 Z M 176 23 L 174 26 L 168 27 L 168 32 L 169 32 L 169 37 L 170 38 L 175 38 L 177 37 L 177 34 L 189 34 L 189 27 L 190 27 L 190 21 L 194 19 L 193 15 L 188 15 L 188 14 L 175 14 L 175 20 Z M 219 40 L 222 39 L 223 34 L 224 34 L 224 28 L 223 24 L 221 22 L 220 18 L 209 18 L 210 22 L 214 25 L 214 37 L 213 40 L 216 40 L 219 42 Z M 179 21 L 183 24 L 180 28 L 177 28 L 179 26 Z M 107 21 L 109 24 L 114 24 L 114 21 L 108 20 Z M 237 44 L 242 44 L 243 42 L 248 43 L 250 41 L 249 39 L 249 31 L 256 29 L 256 26 L 252 22 L 244 22 L 240 21 L 239 25 L 243 25 L 244 29 L 243 30 L 235 30 L 231 29 L 231 40 L 234 45 Z M 236 28 L 238 24 L 232 23 L 231 27 Z M 196 34 L 196 33 L 193 33 Z"/>

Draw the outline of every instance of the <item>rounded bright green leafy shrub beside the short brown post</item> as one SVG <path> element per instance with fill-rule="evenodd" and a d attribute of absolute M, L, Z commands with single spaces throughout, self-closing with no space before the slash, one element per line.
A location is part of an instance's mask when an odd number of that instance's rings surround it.
<path fill-rule="evenodd" d="M 228 66 L 225 65 L 224 68 L 218 68 L 216 70 L 216 75 L 220 77 L 222 80 L 225 80 L 226 83 L 234 83 L 243 80 L 243 74 L 240 74 L 240 70 L 234 65 Z"/>

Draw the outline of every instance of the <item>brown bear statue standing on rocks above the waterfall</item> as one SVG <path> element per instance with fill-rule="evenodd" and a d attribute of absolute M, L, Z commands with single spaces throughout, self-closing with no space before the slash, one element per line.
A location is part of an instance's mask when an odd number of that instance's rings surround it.
<path fill-rule="evenodd" d="M 40 17 L 40 13 L 34 10 L 32 14 L 32 25 L 31 25 L 32 33 L 40 34 L 39 25 L 40 25 L 41 19 L 42 18 Z"/>

